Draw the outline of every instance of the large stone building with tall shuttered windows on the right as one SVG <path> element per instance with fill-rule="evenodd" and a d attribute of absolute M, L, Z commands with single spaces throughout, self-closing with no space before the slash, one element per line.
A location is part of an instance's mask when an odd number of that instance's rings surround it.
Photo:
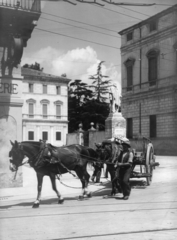
<path fill-rule="evenodd" d="M 177 5 L 119 32 L 127 137 L 177 154 Z"/>

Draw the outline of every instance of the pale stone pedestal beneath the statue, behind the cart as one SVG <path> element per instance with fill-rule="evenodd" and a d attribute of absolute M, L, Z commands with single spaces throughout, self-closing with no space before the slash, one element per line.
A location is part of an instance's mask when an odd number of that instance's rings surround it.
<path fill-rule="evenodd" d="M 105 121 L 105 138 L 126 137 L 126 120 L 122 113 L 110 113 Z"/>

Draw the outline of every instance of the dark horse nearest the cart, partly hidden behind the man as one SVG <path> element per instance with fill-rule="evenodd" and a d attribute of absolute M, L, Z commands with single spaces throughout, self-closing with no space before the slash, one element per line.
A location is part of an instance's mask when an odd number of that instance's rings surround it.
<path fill-rule="evenodd" d="M 117 161 L 122 155 L 122 146 L 119 143 L 109 143 L 102 144 L 97 146 L 96 152 L 99 155 L 99 158 L 107 164 L 107 171 L 111 176 L 112 190 L 111 196 L 115 195 L 117 192 L 122 192 L 122 189 L 119 185 L 119 169 L 115 167 Z"/>

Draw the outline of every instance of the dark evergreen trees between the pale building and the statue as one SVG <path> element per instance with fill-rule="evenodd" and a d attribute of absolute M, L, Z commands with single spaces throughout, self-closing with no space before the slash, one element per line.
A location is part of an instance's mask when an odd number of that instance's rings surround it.
<path fill-rule="evenodd" d="M 105 120 L 109 115 L 109 104 L 106 102 L 108 87 L 111 80 L 101 73 L 100 62 L 97 73 L 90 77 L 93 79 L 92 85 L 87 85 L 81 80 L 75 80 L 69 85 L 69 133 L 75 132 L 79 124 L 83 124 L 83 129 L 90 129 L 90 123 L 93 122 L 99 126 L 99 130 L 105 130 Z"/>

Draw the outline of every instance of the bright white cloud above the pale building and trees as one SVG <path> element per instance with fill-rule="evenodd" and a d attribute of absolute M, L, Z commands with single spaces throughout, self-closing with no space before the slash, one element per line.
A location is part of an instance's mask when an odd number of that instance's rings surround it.
<path fill-rule="evenodd" d="M 68 52 L 48 46 L 33 53 L 30 58 L 24 54 L 22 65 L 38 62 L 44 68 L 45 73 L 56 76 L 66 73 L 67 77 L 72 80 L 81 79 L 84 82 L 92 83 L 89 76 L 96 74 L 100 61 L 96 51 L 89 46 L 76 48 Z M 120 73 L 113 63 L 104 62 L 102 64 L 102 74 L 109 76 L 113 82 L 116 81 L 120 86 Z"/>

